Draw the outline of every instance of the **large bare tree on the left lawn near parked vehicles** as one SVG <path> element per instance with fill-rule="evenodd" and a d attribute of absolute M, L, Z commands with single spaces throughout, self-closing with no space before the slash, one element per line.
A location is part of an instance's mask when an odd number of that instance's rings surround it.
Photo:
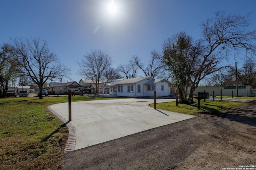
<path fill-rule="evenodd" d="M 29 76 L 39 87 L 39 99 L 47 80 L 68 77 L 70 68 L 61 64 L 57 55 L 48 48 L 46 41 L 40 38 L 14 38 L 15 58 L 20 67 L 20 75 Z"/>

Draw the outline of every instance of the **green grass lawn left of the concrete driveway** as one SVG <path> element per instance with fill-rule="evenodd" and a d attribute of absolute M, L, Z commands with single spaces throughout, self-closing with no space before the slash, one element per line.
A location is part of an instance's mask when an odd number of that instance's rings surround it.
<path fill-rule="evenodd" d="M 106 100 L 72 96 L 72 101 Z M 68 128 L 47 106 L 68 97 L 0 99 L 0 169 L 58 169 L 68 139 Z"/>

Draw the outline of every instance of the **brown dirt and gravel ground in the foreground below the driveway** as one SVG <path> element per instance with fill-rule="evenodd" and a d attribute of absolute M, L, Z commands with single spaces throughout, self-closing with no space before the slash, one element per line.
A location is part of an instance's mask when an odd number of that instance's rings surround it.
<path fill-rule="evenodd" d="M 256 170 L 256 100 L 68 152 L 63 161 L 66 170 Z"/>

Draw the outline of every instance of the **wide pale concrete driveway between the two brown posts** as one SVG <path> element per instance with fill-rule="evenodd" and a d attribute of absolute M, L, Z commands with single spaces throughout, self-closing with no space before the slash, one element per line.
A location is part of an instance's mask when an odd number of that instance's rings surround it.
<path fill-rule="evenodd" d="M 157 99 L 157 103 L 175 99 Z M 118 139 L 155 127 L 194 117 L 171 111 L 155 110 L 154 99 L 114 99 L 72 102 L 72 121 L 68 122 L 68 103 L 48 108 L 69 128 L 65 152 Z"/>

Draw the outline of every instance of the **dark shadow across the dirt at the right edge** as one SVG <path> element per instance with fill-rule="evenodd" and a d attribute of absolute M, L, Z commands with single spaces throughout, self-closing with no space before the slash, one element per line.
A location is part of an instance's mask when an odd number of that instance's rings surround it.
<path fill-rule="evenodd" d="M 246 107 L 237 107 L 222 112 L 202 113 L 230 119 L 239 123 L 256 126 L 256 101 L 248 102 Z"/>

